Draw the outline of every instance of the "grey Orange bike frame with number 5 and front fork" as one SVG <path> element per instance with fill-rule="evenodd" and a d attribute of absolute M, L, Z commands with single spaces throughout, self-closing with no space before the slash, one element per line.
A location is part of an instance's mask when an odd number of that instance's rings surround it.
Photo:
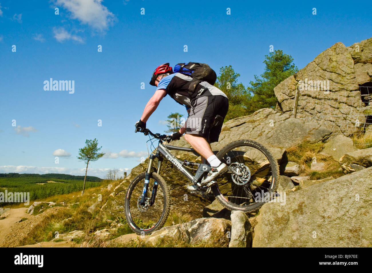
<path fill-rule="evenodd" d="M 180 161 L 179 159 L 176 158 L 176 156 L 172 155 L 169 150 L 182 150 L 186 152 L 195 152 L 194 149 L 192 148 L 184 148 L 184 147 L 176 147 L 176 146 L 171 146 L 171 145 L 164 145 L 161 140 L 159 140 L 159 144 L 157 147 L 157 153 L 151 154 L 148 165 L 147 165 L 147 170 L 146 170 L 146 175 L 145 175 L 145 185 L 142 191 L 142 199 L 141 199 L 141 204 L 144 205 L 146 201 L 146 196 L 147 196 L 147 191 L 148 191 L 148 186 L 150 183 L 150 177 L 151 177 L 151 169 L 153 168 L 153 161 L 155 158 L 158 158 L 158 167 L 157 167 L 157 173 L 160 174 L 160 169 L 161 169 L 161 164 L 163 163 L 163 160 L 165 157 L 168 161 L 173 164 L 179 171 L 185 175 L 185 177 L 190 180 L 194 185 L 196 184 L 198 186 L 198 189 L 200 190 L 202 188 L 202 185 L 200 184 L 200 181 L 205 173 L 208 173 L 211 170 L 211 166 L 208 164 L 203 164 L 203 163 L 196 163 L 198 164 L 198 169 L 196 170 L 195 176 L 193 176 L 187 168 L 183 165 L 183 161 Z M 156 191 L 157 191 L 157 182 L 154 182 L 154 187 L 153 187 L 153 192 L 151 194 L 151 203 L 150 205 L 154 204 L 155 201 L 155 196 L 156 196 Z"/>

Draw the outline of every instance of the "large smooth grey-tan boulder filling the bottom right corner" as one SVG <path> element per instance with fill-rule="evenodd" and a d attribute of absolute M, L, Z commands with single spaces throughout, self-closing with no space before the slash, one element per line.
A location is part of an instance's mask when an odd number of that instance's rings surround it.
<path fill-rule="evenodd" d="M 372 167 L 264 204 L 253 247 L 370 247 L 371 177 Z"/>

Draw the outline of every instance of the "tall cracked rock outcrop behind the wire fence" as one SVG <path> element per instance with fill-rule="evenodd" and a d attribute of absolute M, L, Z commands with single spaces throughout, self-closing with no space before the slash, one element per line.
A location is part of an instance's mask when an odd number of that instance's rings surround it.
<path fill-rule="evenodd" d="M 291 112 L 298 89 L 297 118 L 336 126 L 345 136 L 363 132 L 372 109 L 372 94 L 365 88 L 372 87 L 371 56 L 372 38 L 350 47 L 334 44 L 274 88 L 276 109 Z"/>

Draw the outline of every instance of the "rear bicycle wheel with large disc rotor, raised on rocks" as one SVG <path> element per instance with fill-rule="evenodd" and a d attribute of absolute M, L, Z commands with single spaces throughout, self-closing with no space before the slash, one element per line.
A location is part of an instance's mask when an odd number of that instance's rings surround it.
<path fill-rule="evenodd" d="M 217 153 L 232 171 L 217 178 L 212 191 L 229 210 L 259 209 L 279 183 L 279 165 L 269 150 L 253 140 L 237 140 Z"/>

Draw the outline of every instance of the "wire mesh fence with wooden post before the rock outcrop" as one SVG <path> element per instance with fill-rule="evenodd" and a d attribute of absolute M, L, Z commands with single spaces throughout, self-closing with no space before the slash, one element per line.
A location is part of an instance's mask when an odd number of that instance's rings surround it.
<path fill-rule="evenodd" d="M 299 87 L 293 109 L 294 117 L 342 133 L 359 149 L 372 147 L 372 83 L 327 90 Z"/>

